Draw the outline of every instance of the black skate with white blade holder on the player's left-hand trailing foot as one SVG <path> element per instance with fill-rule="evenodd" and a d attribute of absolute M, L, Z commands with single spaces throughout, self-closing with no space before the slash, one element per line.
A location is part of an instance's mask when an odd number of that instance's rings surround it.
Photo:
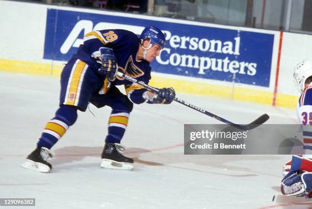
<path fill-rule="evenodd" d="M 52 166 L 46 162 L 46 160 L 52 157 L 53 156 L 48 148 L 37 147 L 31 154 L 29 154 L 29 156 L 27 156 L 26 161 L 21 167 L 40 172 L 49 172 L 52 169 Z"/>

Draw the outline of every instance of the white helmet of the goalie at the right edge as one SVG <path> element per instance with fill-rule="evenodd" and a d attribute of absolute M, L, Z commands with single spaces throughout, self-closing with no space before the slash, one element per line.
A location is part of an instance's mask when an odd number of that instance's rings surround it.
<path fill-rule="evenodd" d="M 312 61 L 304 59 L 294 69 L 294 83 L 299 92 L 304 91 L 305 80 L 310 76 L 312 76 Z"/>

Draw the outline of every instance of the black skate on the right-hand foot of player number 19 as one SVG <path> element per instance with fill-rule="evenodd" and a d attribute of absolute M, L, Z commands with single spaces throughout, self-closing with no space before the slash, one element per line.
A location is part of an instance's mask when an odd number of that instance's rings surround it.
<path fill-rule="evenodd" d="M 118 143 L 106 143 L 102 152 L 102 168 L 133 170 L 133 159 L 125 157 L 124 147 Z"/>

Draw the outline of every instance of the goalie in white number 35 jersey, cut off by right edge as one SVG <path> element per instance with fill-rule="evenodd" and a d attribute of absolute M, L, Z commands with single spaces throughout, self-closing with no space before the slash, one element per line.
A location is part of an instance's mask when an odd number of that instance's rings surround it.
<path fill-rule="evenodd" d="M 300 62 L 294 70 L 294 82 L 302 94 L 297 105 L 297 115 L 302 124 L 306 155 L 293 156 L 283 167 L 281 192 L 284 195 L 312 197 L 312 61 Z"/>

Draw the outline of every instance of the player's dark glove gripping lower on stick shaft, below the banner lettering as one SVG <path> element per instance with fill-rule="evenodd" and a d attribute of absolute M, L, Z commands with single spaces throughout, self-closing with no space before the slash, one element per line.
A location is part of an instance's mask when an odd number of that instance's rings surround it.
<path fill-rule="evenodd" d="M 143 96 L 144 97 L 144 96 Z M 161 88 L 153 97 L 147 99 L 149 104 L 170 104 L 175 98 L 175 91 L 172 87 Z"/>

